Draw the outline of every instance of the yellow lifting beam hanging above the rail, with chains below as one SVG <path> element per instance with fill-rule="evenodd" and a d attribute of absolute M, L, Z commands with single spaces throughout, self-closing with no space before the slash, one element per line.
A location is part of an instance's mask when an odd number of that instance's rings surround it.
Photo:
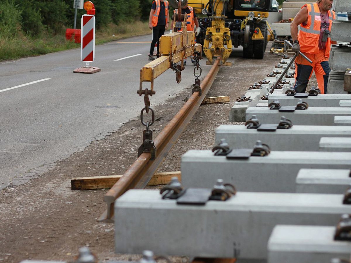
<path fill-rule="evenodd" d="M 145 93 L 143 90 L 143 82 L 151 82 L 151 88 L 148 90 L 149 95 L 155 94 L 153 90 L 153 82 L 159 75 L 171 68 L 176 72 L 177 83 L 181 80 L 181 71 L 183 59 L 188 56 L 197 55 L 201 58 L 202 46 L 195 43 L 195 33 L 186 31 L 186 17 L 184 21 L 178 23 L 177 27 L 182 27 L 183 32 L 174 32 L 161 36 L 160 38 L 160 57 L 147 63 L 140 69 L 140 86 L 138 94 Z M 180 64 L 177 64 L 181 62 Z"/>

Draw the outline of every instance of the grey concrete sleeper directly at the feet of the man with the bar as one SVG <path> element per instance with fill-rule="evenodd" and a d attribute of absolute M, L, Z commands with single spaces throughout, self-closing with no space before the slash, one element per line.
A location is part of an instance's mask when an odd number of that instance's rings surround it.
<path fill-rule="evenodd" d="M 319 94 L 318 96 L 308 96 L 306 98 L 300 98 L 307 102 L 309 107 L 339 107 L 340 100 L 350 100 L 351 94 Z M 268 103 L 278 100 L 284 106 L 296 106 L 299 102 L 299 98 L 294 96 L 286 96 L 285 94 L 272 94 L 268 97 Z M 343 105 L 347 107 L 346 105 Z M 351 107 L 351 104 L 350 104 Z"/>

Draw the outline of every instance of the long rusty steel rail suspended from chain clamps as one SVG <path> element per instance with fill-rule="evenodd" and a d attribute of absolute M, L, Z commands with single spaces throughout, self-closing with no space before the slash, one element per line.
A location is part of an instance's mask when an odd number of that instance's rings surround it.
<path fill-rule="evenodd" d="M 194 92 L 190 99 L 184 104 L 179 112 L 154 139 L 154 145 L 157 149 L 156 159 L 150 160 L 150 153 L 141 154 L 138 159 L 132 164 L 125 174 L 114 184 L 114 186 L 104 196 L 104 201 L 107 203 L 107 210 L 99 217 L 100 222 L 113 221 L 114 201 L 132 188 L 145 188 L 151 180 L 154 173 L 157 171 L 163 160 L 166 158 L 169 151 L 179 139 L 180 135 L 185 130 L 201 102 L 204 100 L 208 90 L 210 89 L 214 78 L 219 70 L 219 59 L 215 61 L 210 72 L 206 75 L 200 84 L 202 95 L 199 92 Z"/>

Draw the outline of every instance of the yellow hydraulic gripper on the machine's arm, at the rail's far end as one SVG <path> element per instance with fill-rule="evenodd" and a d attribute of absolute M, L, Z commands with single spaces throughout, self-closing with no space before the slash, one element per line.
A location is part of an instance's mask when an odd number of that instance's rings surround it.
<path fill-rule="evenodd" d="M 204 53 L 210 64 L 213 64 L 213 57 L 221 57 L 219 63 L 223 65 L 232 52 L 232 40 L 230 38 L 229 28 L 224 27 L 225 15 L 223 12 L 223 1 L 218 2 L 216 14 L 210 16 L 211 27 L 206 30 L 204 40 Z M 212 46 L 209 47 L 210 43 Z M 226 48 L 224 47 L 226 45 Z"/>

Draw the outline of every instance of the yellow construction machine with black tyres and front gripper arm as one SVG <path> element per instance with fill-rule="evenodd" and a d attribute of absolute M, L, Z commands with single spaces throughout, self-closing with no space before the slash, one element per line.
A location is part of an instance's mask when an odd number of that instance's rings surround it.
<path fill-rule="evenodd" d="M 208 61 L 221 56 L 223 64 L 232 47 L 243 46 L 244 58 L 263 59 L 269 38 L 266 18 L 272 0 L 187 0 L 197 13 L 200 34 Z M 183 0 L 184 5 L 186 0 Z M 178 6 L 178 0 L 170 0 Z M 201 15 L 204 17 L 201 17 Z"/>

